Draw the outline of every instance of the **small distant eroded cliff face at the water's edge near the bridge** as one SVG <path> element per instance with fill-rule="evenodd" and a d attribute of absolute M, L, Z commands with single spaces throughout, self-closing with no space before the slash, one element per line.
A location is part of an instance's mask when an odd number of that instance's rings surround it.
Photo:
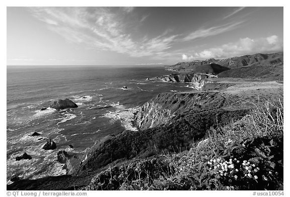
<path fill-rule="evenodd" d="M 169 81 L 174 82 L 195 82 L 199 83 L 203 79 L 212 78 L 215 75 L 210 74 L 170 74 L 168 76 Z"/>

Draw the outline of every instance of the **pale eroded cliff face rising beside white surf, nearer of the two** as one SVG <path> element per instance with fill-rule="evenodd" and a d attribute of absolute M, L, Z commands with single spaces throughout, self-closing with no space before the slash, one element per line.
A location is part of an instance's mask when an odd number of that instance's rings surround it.
<path fill-rule="evenodd" d="M 224 102 L 218 92 L 162 93 L 140 107 L 134 117 L 135 126 L 140 130 L 158 127 L 179 114 L 218 109 Z"/>

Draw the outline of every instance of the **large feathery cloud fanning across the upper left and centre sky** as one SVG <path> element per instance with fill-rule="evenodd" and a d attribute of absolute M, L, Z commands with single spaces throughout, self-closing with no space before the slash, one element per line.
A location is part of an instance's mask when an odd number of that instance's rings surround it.
<path fill-rule="evenodd" d="M 67 41 L 84 43 L 96 50 L 107 50 L 142 57 L 160 54 L 169 49 L 178 35 L 168 35 L 169 31 L 145 39 L 132 39 L 130 25 L 138 25 L 139 19 L 128 21 L 123 12 L 134 8 L 30 8 L 32 14 L 45 22 L 48 28 Z M 144 16 L 141 20 L 145 20 Z M 52 23 L 52 21 L 54 23 Z M 134 25 L 133 25 L 134 26 Z"/>

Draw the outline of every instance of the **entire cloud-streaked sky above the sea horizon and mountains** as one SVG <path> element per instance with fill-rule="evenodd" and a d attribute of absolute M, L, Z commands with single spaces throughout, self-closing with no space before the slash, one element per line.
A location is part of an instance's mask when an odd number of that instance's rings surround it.
<path fill-rule="evenodd" d="M 279 51 L 282 7 L 7 7 L 7 65 L 172 65 Z"/>

